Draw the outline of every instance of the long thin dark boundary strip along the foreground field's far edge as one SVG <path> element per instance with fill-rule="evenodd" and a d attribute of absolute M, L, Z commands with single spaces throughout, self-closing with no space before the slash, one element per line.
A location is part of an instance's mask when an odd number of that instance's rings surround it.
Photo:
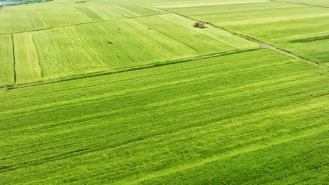
<path fill-rule="evenodd" d="M 44 85 L 44 84 L 53 84 L 53 83 L 58 83 L 58 82 L 66 82 L 66 81 L 71 81 L 71 80 L 75 80 L 75 79 L 84 79 L 84 78 L 88 78 L 88 77 L 112 75 L 112 74 L 123 73 L 123 72 L 127 72 L 127 71 L 138 71 L 138 70 L 143 70 L 143 69 L 151 69 L 151 68 L 155 68 L 158 66 L 167 66 L 170 64 L 179 64 L 179 63 L 183 63 L 183 62 L 192 62 L 195 60 L 202 60 L 202 59 L 206 59 L 206 58 L 215 58 L 218 56 L 228 56 L 228 55 L 237 54 L 237 53 L 255 51 L 255 50 L 259 50 L 259 49 L 262 49 L 262 48 L 259 47 L 259 48 L 239 49 L 239 50 L 226 51 L 226 52 L 221 52 L 221 53 L 212 53 L 210 55 L 204 55 L 204 56 L 196 56 L 193 58 L 183 58 L 180 60 L 169 60 L 169 61 L 164 61 L 164 62 L 145 64 L 145 65 L 141 65 L 141 66 L 132 66 L 132 67 L 127 67 L 127 68 L 123 68 L 123 69 L 114 69 L 114 70 L 110 70 L 110 71 L 99 71 L 96 73 L 86 73 L 84 75 L 76 75 L 73 77 L 49 79 L 49 80 L 45 80 L 43 82 L 34 82 L 34 83 L 29 83 L 29 84 L 14 84 L 13 86 L 7 86 L 7 87 L 0 88 L 0 91 L 12 90 L 12 89 L 16 89 L 16 88 L 25 88 L 25 87 L 29 87 L 29 86 L 40 86 L 40 85 Z"/>

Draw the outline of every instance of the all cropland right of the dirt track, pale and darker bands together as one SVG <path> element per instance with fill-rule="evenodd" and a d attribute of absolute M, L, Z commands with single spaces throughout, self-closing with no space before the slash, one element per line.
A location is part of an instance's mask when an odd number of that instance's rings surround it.
<path fill-rule="evenodd" d="M 210 21 L 214 25 L 256 38 L 306 60 L 329 65 L 328 8 L 265 1 L 168 10 L 199 21 Z"/>

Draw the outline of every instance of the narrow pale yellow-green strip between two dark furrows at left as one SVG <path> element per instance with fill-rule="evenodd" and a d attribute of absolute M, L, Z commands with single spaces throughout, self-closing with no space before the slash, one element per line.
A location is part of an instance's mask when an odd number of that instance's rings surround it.
<path fill-rule="evenodd" d="M 23 33 L 14 35 L 14 50 L 16 61 L 16 83 L 24 84 L 41 79 L 41 69 L 38 53 L 34 47 L 32 34 Z"/>

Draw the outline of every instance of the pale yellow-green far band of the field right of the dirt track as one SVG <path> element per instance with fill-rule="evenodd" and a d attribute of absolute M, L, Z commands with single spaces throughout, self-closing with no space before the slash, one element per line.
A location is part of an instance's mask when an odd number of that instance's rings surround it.
<path fill-rule="evenodd" d="M 237 5 L 173 8 L 169 10 L 219 26 L 269 23 L 291 19 L 329 16 L 327 8 L 275 1 Z"/>

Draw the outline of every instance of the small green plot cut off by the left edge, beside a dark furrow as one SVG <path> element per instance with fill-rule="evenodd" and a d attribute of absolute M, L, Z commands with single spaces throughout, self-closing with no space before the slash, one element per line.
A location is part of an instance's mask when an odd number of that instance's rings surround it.
<path fill-rule="evenodd" d="M 12 38 L 10 35 L 0 36 L 0 87 L 14 83 L 14 58 L 12 54 Z"/>

